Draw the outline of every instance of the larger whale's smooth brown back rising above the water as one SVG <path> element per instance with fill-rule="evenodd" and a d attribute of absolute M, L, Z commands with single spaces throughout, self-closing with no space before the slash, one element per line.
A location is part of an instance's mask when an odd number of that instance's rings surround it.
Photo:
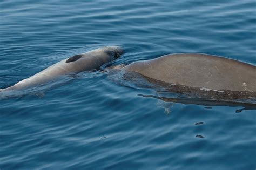
<path fill-rule="evenodd" d="M 212 90 L 256 91 L 256 66 L 219 56 L 179 53 L 123 68 L 166 83 Z"/>

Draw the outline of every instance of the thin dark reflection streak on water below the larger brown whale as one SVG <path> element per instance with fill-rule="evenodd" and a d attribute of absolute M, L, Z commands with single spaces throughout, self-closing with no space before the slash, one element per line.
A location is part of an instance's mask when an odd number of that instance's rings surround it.
<path fill-rule="evenodd" d="M 244 103 L 239 101 L 218 101 L 218 100 L 204 100 L 200 98 L 186 98 L 186 97 L 160 97 L 160 96 L 154 96 L 154 95 L 143 95 L 138 94 L 138 96 L 142 96 L 145 98 L 156 98 L 163 100 L 165 102 L 171 102 L 171 103 L 181 103 L 184 105 L 202 105 L 202 106 L 208 106 L 206 108 L 211 108 L 211 106 L 230 106 L 230 107 L 244 107 L 242 109 L 238 109 L 235 112 L 239 113 L 243 110 L 256 110 L 256 104 L 253 103 Z"/>

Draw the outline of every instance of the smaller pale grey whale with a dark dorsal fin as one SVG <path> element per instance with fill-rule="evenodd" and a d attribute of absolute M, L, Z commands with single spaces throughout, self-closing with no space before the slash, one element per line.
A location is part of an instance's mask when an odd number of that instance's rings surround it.
<path fill-rule="evenodd" d="M 54 81 L 62 75 L 99 69 L 100 66 L 119 58 L 123 53 L 124 50 L 118 46 L 107 46 L 75 55 L 61 60 L 45 70 L 19 81 L 13 86 L 0 89 L 0 92 L 28 89 Z"/>

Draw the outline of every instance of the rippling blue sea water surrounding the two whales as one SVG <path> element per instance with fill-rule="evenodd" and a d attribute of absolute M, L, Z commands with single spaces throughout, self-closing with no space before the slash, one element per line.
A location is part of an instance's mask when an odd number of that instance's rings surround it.
<path fill-rule="evenodd" d="M 256 2 L 0 2 L 0 89 L 102 46 L 256 64 Z M 255 169 L 256 112 L 160 100 L 108 72 L 0 100 L 0 169 Z M 143 97 L 144 96 L 144 97 Z M 149 96 L 149 97 L 145 97 Z"/>

